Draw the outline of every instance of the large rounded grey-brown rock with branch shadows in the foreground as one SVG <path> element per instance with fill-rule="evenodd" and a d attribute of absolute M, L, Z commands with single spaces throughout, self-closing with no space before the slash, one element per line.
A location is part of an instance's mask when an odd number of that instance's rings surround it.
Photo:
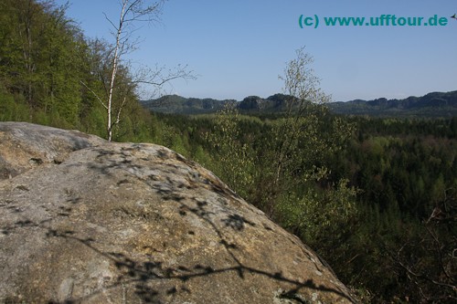
<path fill-rule="evenodd" d="M 351 303 L 301 241 L 154 144 L 0 122 L 0 303 Z"/>

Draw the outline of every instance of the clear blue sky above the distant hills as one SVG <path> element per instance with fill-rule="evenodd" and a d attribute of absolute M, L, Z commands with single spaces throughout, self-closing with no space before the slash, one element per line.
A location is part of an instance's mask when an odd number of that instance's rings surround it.
<path fill-rule="evenodd" d="M 69 0 L 67 15 L 87 37 L 113 41 L 103 13 L 116 20 L 119 1 Z M 402 99 L 457 89 L 455 13 L 455 0 L 169 0 L 160 23 L 135 32 L 142 42 L 130 58 L 195 71 L 197 80 L 176 80 L 165 87 L 168 93 L 242 100 L 282 92 L 278 76 L 305 46 L 334 101 Z M 319 26 L 301 28 L 301 15 L 317 16 Z M 423 17 L 422 23 L 437 15 L 447 25 L 324 26 L 329 16 L 367 23 L 381 15 Z"/>

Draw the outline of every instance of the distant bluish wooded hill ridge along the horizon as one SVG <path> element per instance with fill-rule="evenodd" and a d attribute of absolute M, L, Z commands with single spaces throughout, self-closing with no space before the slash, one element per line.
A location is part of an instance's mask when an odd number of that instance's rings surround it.
<path fill-rule="evenodd" d="M 144 100 L 143 106 L 149 110 L 175 114 L 213 113 L 228 103 L 235 103 L 242 112 L 281 112 L 284 110 L 286 95 L 275 94 L 267 99 L 250 96 L 244 100 L 213 100 L 184 98 L 166 95 L 157 100 Z M 404 100 L 351 100 L 328 104 L 336 114 L 396 116 L 396 117 L 452 117 L 457 116 L 457 90 L 433 92 L 421 97 L 411 96 Z"/>

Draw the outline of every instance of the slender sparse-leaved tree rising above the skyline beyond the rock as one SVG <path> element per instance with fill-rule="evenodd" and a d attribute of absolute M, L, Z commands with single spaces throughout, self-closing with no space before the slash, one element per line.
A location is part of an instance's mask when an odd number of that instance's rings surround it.
<path fill-rule="evenodd" d="M 320 89 L 313 62 L 300 48 L 296 58 L 286 63 L 280 76 L 284 82 L 282 116 L 267 124 L 265 136 L 271 139 L 259 143 L 260 172 L 256 176 L 260 181 L 251 200 L 269 215 L 277 211 L 279 202 L 313 196 L 315 185 L 324 183 L 331 171 L 328 155 L 340 150 L 353 132 L 345 121 L 330 117 L 325 106 L 330 97 Z M 292 199 L 299 188 L 311 190 Z"/>

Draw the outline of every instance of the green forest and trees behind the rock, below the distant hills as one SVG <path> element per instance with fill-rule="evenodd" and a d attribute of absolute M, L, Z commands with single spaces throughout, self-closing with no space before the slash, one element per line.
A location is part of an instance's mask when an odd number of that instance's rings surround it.
<path fill-rule="evenodd" d="M 0 2 L 0 121 L 106 138 L 98 97 L 108 95 L 113 46 L 84 37 L 65 14 L 52 1 Z M 298 53 L 285 69 L 289 110 L 248 115 L 228 105 L 198 116 L 145 110 L 121 62 L 113 140 L 163 144 L 217 173 L 364 303 L 454 303 L 457 117 L 332 114 L 319 89 L 304 95 L 294 78 L 309 71 L 307 59 Z"/>

